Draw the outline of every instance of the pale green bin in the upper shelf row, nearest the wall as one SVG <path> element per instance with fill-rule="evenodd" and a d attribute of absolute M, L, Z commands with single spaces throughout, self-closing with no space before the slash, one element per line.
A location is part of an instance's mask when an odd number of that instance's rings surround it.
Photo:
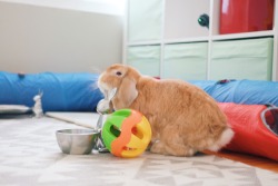
<path fill-rule="evenodd" d="M 128 41 L 161 39 L 161 0 L 130 0 L 128 19 Z"/>

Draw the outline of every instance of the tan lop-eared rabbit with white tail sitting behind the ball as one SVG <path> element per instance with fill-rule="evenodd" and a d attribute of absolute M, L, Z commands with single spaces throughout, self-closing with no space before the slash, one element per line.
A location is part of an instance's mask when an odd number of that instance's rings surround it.
<path fill-rule="evenodd" d="M 113 109 L 131 108 L 148 118 L 152 153 L 192 156 L 205 149 L 217 151 L 234 136 L 214 98 L 188 82 L 158 80 L 129 66 L 112 65 L 100 75 L 98 86 L 106 97 L 118 89 Z"/>

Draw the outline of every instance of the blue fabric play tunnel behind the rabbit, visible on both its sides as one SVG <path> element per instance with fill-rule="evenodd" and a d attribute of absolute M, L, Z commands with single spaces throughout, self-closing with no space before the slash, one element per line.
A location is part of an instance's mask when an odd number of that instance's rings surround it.
<path fill-rule="evenodd" d="M 30 74 L 0 71 L 0 105 L 32 107 L 33 97 L 43 92 L 43 111 L 95 111 L 102 94 L 95 74 Z M 278 106 L 278 82 L 264 80 L 189 81 L 219 102 Z"/>

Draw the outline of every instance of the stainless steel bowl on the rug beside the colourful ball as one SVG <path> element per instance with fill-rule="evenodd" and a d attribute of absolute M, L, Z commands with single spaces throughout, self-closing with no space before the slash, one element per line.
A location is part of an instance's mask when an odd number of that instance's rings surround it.
<path fill-rule="evenodd" d="M 71 155 L 90 154 L 100 133 L 92 129 L 62 129 L 56 131 L 62 153 Z"/>

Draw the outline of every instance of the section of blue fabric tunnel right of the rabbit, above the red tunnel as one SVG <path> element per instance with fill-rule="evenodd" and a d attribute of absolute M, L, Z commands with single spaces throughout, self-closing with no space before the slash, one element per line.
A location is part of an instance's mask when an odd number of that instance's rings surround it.
<path fill-rule="evenodd" d="M 219 102 L 278 106 L 278 82 L 265 80 L 189 81 Z"/>

